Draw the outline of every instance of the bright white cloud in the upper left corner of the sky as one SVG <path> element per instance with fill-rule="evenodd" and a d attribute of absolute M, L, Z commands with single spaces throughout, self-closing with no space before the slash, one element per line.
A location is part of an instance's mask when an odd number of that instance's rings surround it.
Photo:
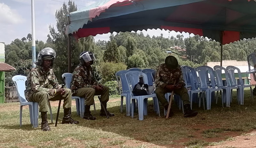
<path fill-rule="evenodd" d="M 0 3 L 0 23 L 2 25 L 18 24 L 23 22 L 23 18 L 8 5 Z"/>

